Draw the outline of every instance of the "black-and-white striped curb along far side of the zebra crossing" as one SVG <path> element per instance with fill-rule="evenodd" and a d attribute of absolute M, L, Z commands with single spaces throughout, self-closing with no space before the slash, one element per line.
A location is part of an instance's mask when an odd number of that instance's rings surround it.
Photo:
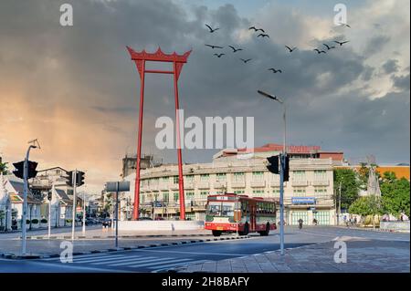
<path fill-rule="evenodd" d="M 209 234 L 203 234 L 209 235 Z M 186 235 L 189 236 L 189 235 Z M 196 236 L 196 235 L 192 235 Z M 125 247 L 118 247 L 118 248 L 108 248 L 103 250 L 92 250 L 92 251 L 84 251 L 84 252 L 74 252 L 74 255 L 90 255 L 90 254 L 98 254 L 98 253 L 111 253 L 111 252 L 121 252 L 121 251 L 129 251 L 133 249 L 142 249 L 142 248 L 153 248 L 159 246 L 168 246 L 168 245 L 179 245 L 179 244 L 198 244 L 198 243 L 205 243 L 211 241 L 224 241 L 224 240 L 233 240 L 233 239 L 246 239 L 249 238 L 248 235 L 241 235 L 241 236 L 230 236 L 230 237 L 220 237 L 220 238 L 207 238 L 207 239 L 199 239 L 199 240 L 189 240 L 189 241 L 181 241 L 181 242 L 173 242 L 173 243 L 162 243 L 162 244 L 147 244 L 147 245 L 135 245 L 135 246 L 125 246 Z M 69 237 L 71 238 L 71 236 Z M 45 255 L 16 255 L 13 253 L 0 253 L 0 257 L 4 257 L 6 259 L 44 259 L 50 257 L 58 257 L 60 256 L 59 253 L 52 253 L 52 254 L 45 254 Z"/>

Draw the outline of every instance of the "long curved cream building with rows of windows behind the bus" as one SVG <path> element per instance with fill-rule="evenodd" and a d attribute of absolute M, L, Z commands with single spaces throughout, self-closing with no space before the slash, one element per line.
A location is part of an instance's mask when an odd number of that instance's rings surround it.
<path fill-rule="evenodd" d="M 241 151 L 225 150 L 217 153 L 210 163 L 184 164 L 185 216 L 204 220 L 209 194 L 232 192 L 279 201 L 279 175 L 267 170 L 266 158 L 278 154 L 282 148 L 264 146 L 255 150 L 258 151 L 248 159 L 242 157 Z M 310 151 L 292 151 L 290 148 L 289 151 L 290 181 L 284 184 L 285 223 L 297 224 L 302 218 L 305 224 L 311 224 L 315 218 L 319 224 L 334 224 L 332 170 L 338 159 L 332 156 L 320 158 L 318 151 L 317 156 Z M 147 168 L 141 171 L 141 177 L 142 215 L 164 219 L 178 217 L 177 165 Z M 131 191 L 123 193 L 122 201 L 133 203 L 135 173 L 125 180 L 131 182 Z M 127 215 L 130 213 L 122 213 L 121 217 Z"/>

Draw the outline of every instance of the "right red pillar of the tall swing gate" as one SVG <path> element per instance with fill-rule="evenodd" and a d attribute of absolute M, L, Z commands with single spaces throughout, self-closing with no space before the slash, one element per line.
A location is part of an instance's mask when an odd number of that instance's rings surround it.
<path fill-rule="evenodd" d="M 180 194 L 180 219 L 185 220 L 185 200 L 184 200 L 184 180 L 183 180 L 183 161 L 181 157 L 181 142 L 180 142 L 180 118 L 178 109 L 180 105 L 178 103 L 178 72 L 177 63 L 174 62 L 174 97 L 175 97 L 175 132 L 177 139 L 177 158 L 178 158 L 178 192 Z M 184 122 L 184 120 L 182 120 Z"/>

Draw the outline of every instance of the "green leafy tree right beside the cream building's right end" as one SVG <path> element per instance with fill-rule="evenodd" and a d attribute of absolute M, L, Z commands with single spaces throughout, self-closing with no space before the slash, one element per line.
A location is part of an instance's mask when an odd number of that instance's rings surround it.
<path fill-rule="evenodd" d="M 360 182 L 358 182 L 355 171 L 352 169 L 334 170 L 334 199 L 340 200 L 341 183 L 341 208 L 348 209 L 358 198 L 360 192 Z"/>

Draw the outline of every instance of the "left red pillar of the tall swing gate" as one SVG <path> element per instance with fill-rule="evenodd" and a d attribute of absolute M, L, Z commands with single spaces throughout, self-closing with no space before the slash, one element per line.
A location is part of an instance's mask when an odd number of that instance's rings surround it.
<path fill-rule="evenodd" d="M 142 161 L 142 112 L 144 106 L 144 75 L 145 75 L 145 60 L 142 60 L 142 67 L 140 70 L 140 113 L 139 113 L 139 133 L 137 143 L 137 164 L 135 173 L 135 188 L 134 188 L 134 208 L 132 212 L 132 219 L 139 219 L 139 205 L 140 205 L 140 161 Z"/>

